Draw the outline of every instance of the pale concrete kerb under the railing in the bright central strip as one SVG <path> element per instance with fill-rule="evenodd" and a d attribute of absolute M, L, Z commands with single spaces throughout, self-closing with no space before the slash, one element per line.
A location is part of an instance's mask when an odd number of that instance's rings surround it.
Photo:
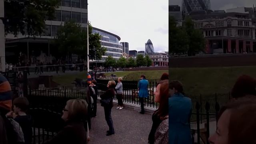
<path fill-rule="evenodd" d="M 98 98 L 97 102 L 100 103 L 100 98 Z M 118 105 L 117 100 L 113 100 L 113 103 L 114 103 L 114 107 Z M 138 104 L 130 104 L 130 103 L 126 103 L 126 102 L 123 102 L 123 104 L 124 104 L 124 108 L 134 110 L 136 112 L 140 112 L 140 110 L 141 110 L 140 105 L 138 105 Z M 148 106 L 144 106 L 145 114 L 152 115 L 155 110 L 156 110 L 156 108 L 150 108 Z"/>

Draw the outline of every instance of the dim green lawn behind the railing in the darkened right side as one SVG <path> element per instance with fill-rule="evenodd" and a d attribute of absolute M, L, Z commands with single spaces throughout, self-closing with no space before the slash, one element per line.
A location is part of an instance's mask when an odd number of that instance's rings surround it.
<path fill-rule="evenodd" d="M 256 77 L 256 66 L 170 68 L 169 70 L 170 80 L 180 80 L 188 95 L 227 94 L 240 75 Z"/>

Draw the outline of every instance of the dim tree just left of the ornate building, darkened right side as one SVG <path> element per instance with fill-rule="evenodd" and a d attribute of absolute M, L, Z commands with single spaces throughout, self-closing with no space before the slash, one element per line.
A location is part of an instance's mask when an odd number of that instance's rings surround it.
<path fill-rule="evenodd" d="M 206 40 L 202 30 L 194 28 L 194 22 L 190 17 L 186 17 L 182 27 L 186 30 L 189 38 L 188 56 L 194 56 L 198 52 L 204 52 Z"/>

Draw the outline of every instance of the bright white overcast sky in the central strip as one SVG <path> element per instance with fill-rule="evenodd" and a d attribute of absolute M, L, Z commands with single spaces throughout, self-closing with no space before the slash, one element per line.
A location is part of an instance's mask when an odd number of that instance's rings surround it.
<path fill-rule="evenodd" d="M 168 0 L 88 0 L 88 20 L 130 50 L 145 50 L 150 39 L 155 52 L 168 51 Z"/>

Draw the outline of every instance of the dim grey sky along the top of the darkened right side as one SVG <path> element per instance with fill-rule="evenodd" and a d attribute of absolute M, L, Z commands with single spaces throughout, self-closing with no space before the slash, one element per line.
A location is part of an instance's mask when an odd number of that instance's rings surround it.
<path fill-rule="evenodd" d="M 169 0 L 169 4 L 178 4 L 181 6 L 182 0 Z M 252 7 L 256 0 L 211 0 L 212 10 L 226 10 L 236 7 Z"/>

